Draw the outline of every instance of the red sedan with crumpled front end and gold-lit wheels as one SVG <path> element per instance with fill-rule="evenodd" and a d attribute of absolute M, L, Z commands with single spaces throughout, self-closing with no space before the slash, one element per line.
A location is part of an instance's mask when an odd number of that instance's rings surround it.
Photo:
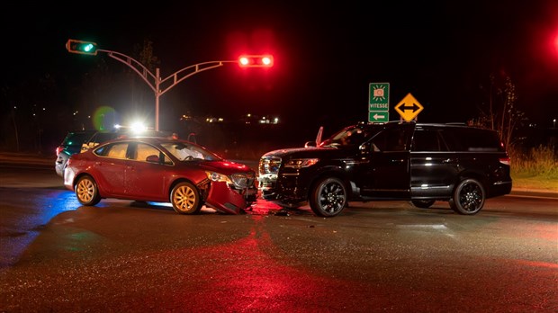
<path fill-rule="evenodd" d="M 194 214 L 205 204 L 238 214 L 257 198 L 256 173 L 181 139 L 120 138 L 70 157 L 64 185 L 92 206 L 101 199 L 170 202 Z"/>

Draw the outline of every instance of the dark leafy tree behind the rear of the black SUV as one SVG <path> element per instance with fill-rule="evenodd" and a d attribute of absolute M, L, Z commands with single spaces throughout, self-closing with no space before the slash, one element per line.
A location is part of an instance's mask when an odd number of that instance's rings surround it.
<path fill-rule="evenodd" d="M 514 130 L 517 130 L 523 121 L 527 121 L 525 113 L 516 107 L 516 85 L 508 75 L 497 77 L 491 74 L 488 88 L 481 85 L 481 89 L 485 91 L 483 98 L 488 99 L 488 102 L 482 102 L 479 107 L 480 116 L 469 121 L 469 124 L 497 130 L 504 145 L 513 146 Z"/>

